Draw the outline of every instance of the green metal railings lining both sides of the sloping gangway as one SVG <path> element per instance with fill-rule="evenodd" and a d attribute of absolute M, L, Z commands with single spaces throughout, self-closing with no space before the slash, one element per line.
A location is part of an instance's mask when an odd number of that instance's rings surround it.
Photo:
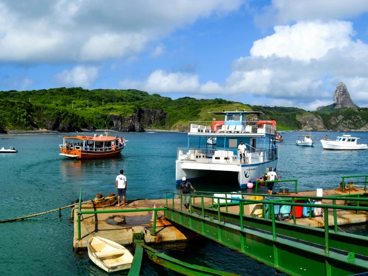
<path fill-rule="evenodd" d="M 200 191 L 199 191 L 200 192 Z M 173 204 L 171 206 L 171 208 L 176 209 L 175 208 L 175 195 L 178 195 L 180 197 L 180 211 L 183 211 L 183 204 L 182 204 L 182 197 L 181 195 L 188 195 L 188 194 L 180 194 L 180 193 L 176 193 L 176 192 L 165 192 L 166 193 L 166 207 L 168 207 L 168 194 L 172 194 L 172 200 L 173 200 Z M 198 191 L 196 192 L 198 193 Z M 193 202 L 195 200 L 195 198 L 200 198 L 200 207 L 201 207 L 201 215 L 202 218 L 204 218 L 204 210 L 206 209 L 206 207 L 204 206 L 204 198 L 210 198 L 212 201 L 212 205 L 208 206 L 208 207 L 212 207 L 212 209 L 214 209 L 214 204 L 213 204 L 213 200 L 217 199 L 217 201 L 219 202 L 220 199 L 222 200 L 226 200 L 225 201 L 225 206 L 226 206 L 226 213 L 228 212 L 227 210 L 227 206 L 230 203 L 227 203 L 227 200 L 229 200 L 230 198 L 228 197 L 218 197 L 218 196 L 208 196 L 208 195 L 203 195 L 203 193 L 207 193 L 207 192 L 200 192 L 202 193 L 201 195 L 198 194 L 189 194 L 189 196 L 191 197 L 191 199 L 193 199 Z M 217 192 L 220 193 L 220 192 Z M 226 194 L 225 194 L 226 195 Z M 296 225 L 296 216 L 295 216 L 295 207 L 299 206 L 299 207 L 308 207 L 310 208 L 310 218 L 312 216 L 312 212 L 311 212 L 311 208 L 316 207 L 316 208 L 322 208 L 324 209 L 324 216 L 325 216 L 325 225 L 327 225 L 327 229 L 329 227 L 328 224 L 328 209 L 332 209 L 333 210 L 333 214 L 334 214 L 334 230 L 335 233 L 338 233 L 338 220 L 337 220 L 337 210 L 354 210 L 357 211 L 357 213 L 359 211 L 368 211 L 368 207 L 360 207 L 360 206 L 345 206 L 345 205 L 336 205 L 336 200 L 351 200 L 353 196 L 345 196 L 344 195 L 339 195 L 339 196 L 325 196 L 325 197 L 317 197 L 317 196 L 295 196 L 295 195 L 275 195 L 276 197 L 291 197 L 291 201 L 292 202 L 288 202 L 290 201 L 290 199 L 284 199 L 282 201 L 282 204 L 280 204 L 281 200 L 265 200 L 265 197 L 268 195 L 257 195 L 257 194 L 247 194 L 247 195 L 256 195 L 256 196 L 262 196 L 263 199 L 262 200 L 253 200 L 253 199 L 244 199 L 244 198 L 234 198 L 234 200 L 239 201 L 239 203 L 237 203 L 237 205 L 239 205 L 239 216 L 240 216 L 240 228 L 242 229 L 243 226 L 243 212 L 244 212 L 244 204 L 262 204 L 262 218 L 267 219 L 265 216 L 265 204 L 269 205 L 270 208 L 269 210 L 271 210 L 272 212 L 268 212 L 269 216 L 271 216 L 272 219 L 272 228 L 273 228 L 273 235 L 276 236 L 276 232 L 274 231 L 275 228 L 275 212 L 274 212 L 274 205 L 288 205 L 291 206 L 291 208 L 293 209 L 293 224 Z M 273 196 L 273 195 L 272 195 Z M 312 204 L 308 204 L 308 203 L 295 203 L 294 200 L 301 200 L 302 198 L 314 198 L 314 199 L 329 199 L 333 201 L 333 204 L 318 204 L 318 205 L 312 205 Z M 361 198 L 356 198 L 356 200 L 359 201 L 367 201 Z M 194 204 L 194 203 L 193 203 Z M 192 200 L 190 200 L 190 207 L 189 207 L 189 213 L 192 214 Z M 220 205 L 221 207 L 221 205 Z M 218 209 L 218 221 L 219 223 L 221 223 L 221 211 L 220 208 Z M 269 217 L 268 216 L 268 217 Z M 325 226 L 326 227 L 326 226 Z M 327 235 L 327 239 L 328 239 L 328 233 Z M 327 244 L 328 245 L 328 244 Z"/>

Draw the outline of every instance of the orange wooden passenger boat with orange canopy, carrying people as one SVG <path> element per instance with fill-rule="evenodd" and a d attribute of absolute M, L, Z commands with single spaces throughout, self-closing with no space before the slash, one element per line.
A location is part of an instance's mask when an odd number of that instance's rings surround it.
<path fill-rule="evenodd" d="M 78 142 L 76 141 L 78 140 Z M 113 157 L 123 150 L 124 138 L 110 136 L 68 136 L 60 144 L 60 155 L 75 159 Z"/>

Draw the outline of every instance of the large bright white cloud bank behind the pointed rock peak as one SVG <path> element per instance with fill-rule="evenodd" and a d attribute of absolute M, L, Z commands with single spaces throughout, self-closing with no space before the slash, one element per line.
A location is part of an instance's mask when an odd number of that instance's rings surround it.
<path fill-rule="evenodd" d="M 353 101 L 368 106 L 368 44 L 353 40 L 351 22 L 298 22 L 279 26 L 271 36 L 254 42 L 249 56 L 233 61 L 223 84 L 199 82 L 199 76 L 156 70 L 146 81 L 120 82 L 121 88 L 149 93 L 187 93 L 247 100 L 260 97 L 268 105 L 306 110 L 333 103 L 340 81 Z M 130 85 L 127 87 L 126 85 Z"/>

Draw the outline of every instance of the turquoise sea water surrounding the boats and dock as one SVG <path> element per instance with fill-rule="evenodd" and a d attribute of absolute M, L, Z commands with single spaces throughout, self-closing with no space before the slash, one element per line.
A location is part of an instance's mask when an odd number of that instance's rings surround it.
<path fill-rule="evenodd" d="M 341 135 L 328 134 L 330 138 Z M 177 191 L 176 152 L 177 147 L 187 146 L 187 134 L 124 135 L 128 142 L 121 156 L 98 160 L 71 160 L 60 156 L 60 135 L 0 136 L 0 147 L 12 145 L 19 150 L 16 154 L 0 154 L 0 220 L 69 205 L 78 199 L 80 187 L 83 187 L 84 200 L 92 199 L 98 192 L 105 195 L 115 192 L 115 177 L 120 169 L 124 169 L 127 176 L 128 200 L 164 198 L 165 191 Z M 277 173 L 281 179 L 299 179 L 299 190 L 333 188 L 339 185 L 341 175 L 368 174 L 368 150 L 324 151 L 318 139 L 324 138 L 325 133 L 312 133 L 316 141 L 314 147 L 299 147 L 295 145 L 298 135 L 303 133 L 284 134 Z M 368 143 L 367 133 L 354 135 L 362 137 L 361 143 Z M 196 141 L 192 143 L 197 146 Z M 197 190 L 239 190 L 236 175 L 214 174 L 193 185 Z M 280 187 L 293 189 L 294 185 L 275 185 L 277 189 Z M 73 225 L 69 217 L 70 209 L 67 209 L 62 211 L 61 218 L 55 212 L 0 224 L 0 247 L 7 249 L 0 251 L 0 275 L 107 275 L 89 261 L 86 253 L 73 254 Z M 344 231 L 366 234 L 368 229 L 366 226 L 346 227 Z M 157 248 L 189 263 L 246 275 L 274 274 L 273 269 L 206 239 L 157 245 Z M 229 262 L 223 264 L 223 260 Z M 142 275 L 175 274 L 147 262 Z"/>

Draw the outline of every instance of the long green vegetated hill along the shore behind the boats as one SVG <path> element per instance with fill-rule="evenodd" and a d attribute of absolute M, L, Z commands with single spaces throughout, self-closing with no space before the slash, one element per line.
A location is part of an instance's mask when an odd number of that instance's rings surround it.
<path fill-rule="evenodd" d="M 278 130 L 368 130 L 368 109 L 307 112 L 292 107 L 249 106 L 223 99 L 172 100 L 135 89 L 53 88 L 0 91 L 0 132 L 52 130 L 74 132 L 109 129 L 143 131 L 145 128 L 186 131 L 188 121 L 223 120 L 210 111 L 261 111 L 260 120 L 275 120 Z M 250 118 L 250 117 L 249 117 Z M 314 123 L 313 123 L 314 122 Z"/>

